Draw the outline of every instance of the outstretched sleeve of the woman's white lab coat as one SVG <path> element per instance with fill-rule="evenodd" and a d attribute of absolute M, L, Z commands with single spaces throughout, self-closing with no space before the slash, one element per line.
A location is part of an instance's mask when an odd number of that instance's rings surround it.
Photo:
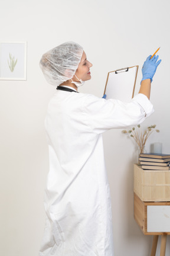
<path fill-rule="evenodd" d="M 137 94 L 129 103 L 105 100 L 89 94 L 84 99 L 86 124 L 94 133 L 135 126 L 142 123 L 153 111 L 153 105 L 144 94 Z"/>

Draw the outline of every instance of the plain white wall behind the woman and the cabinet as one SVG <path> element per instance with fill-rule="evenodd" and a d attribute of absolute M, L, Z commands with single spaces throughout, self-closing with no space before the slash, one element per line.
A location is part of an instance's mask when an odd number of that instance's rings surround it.
<path fill-rule="evenodd" d="M 80 43 L 93 63 L 92 79 L 80 91 L 102 97 L 107 72 L 132 65 L 141 69 L 146 57 L 161 46 L 162 63 L 152 83 L 155 113 L 142 127 L 157 124 L 161 130 L 149 138 L 148 151 L 158 141 L 169 153 L 169 0 L 6 0 L 1 2 L 0 21 L 1 41 L 28 42 L 27 81 L 0 81 L 0 254 L 36 256 L 44 229 L 48 172 L 44 117 L 55 92 L 38 66 L 42 53 L 64 41 Z M 151 252 L 152 237 L 144 236 L 133 219 L 135 146 L 121 130 L 104 134 L 115 256 Z M 156 255 L 159 249 L 160 244 Z M 168 238 L 166 255 L 169 251 Z"/>

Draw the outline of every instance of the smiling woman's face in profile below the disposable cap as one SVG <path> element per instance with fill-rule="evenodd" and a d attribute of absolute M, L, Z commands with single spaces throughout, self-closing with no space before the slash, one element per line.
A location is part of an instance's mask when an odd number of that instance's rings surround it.
<path fill-rule="evenodd" d="M 91 66 L 93 66 L 93 65 L 89 62 L 89 60 L 87 60 L 86 53 L 83 52 L 79 66 L 75 73 L 77 78 L 81 79 L 82 81 L 90 80 L 91 79 L 91 75 L 90 75 Z M 79 80 L 77 80 L 76 76 L 73 76 L 73 79 L 75 82 L 79 82 Z"/>

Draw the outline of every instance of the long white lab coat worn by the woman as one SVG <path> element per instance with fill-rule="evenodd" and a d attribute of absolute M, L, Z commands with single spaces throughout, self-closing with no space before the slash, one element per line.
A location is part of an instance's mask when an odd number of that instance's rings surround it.
<path fill-rule="evenodd" d="M 143 94 L 130 103 L 76 92 L 54 94 L 45 120 L 50 171 L 40 256 L 113 256 L 102 133 L 139 124 L 152 112 Z"/>

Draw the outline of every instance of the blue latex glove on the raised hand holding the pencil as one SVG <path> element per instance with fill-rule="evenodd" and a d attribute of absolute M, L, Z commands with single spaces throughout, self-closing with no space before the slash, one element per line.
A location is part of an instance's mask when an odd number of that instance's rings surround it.
<path fill-rule="evenodd" d="M 146 61 L 143 64 L 143 68 L 142 68 L 142 81 L 145 79 L 150 78 L 151 82 L 152 82 L 152 78 L 153 75 L 155 75 L 156 72 L 156 68 L 158 67 L 158 65 L 161 63 L 161 60 L 158 60 L 159 56 L 153 56 L 151 59 L 152 55 L 149 55 L 146 59 Z M 158 62 L 157 62 L 158 60 Z M 142 82 L 141 81 L 141 82 Z"/>

